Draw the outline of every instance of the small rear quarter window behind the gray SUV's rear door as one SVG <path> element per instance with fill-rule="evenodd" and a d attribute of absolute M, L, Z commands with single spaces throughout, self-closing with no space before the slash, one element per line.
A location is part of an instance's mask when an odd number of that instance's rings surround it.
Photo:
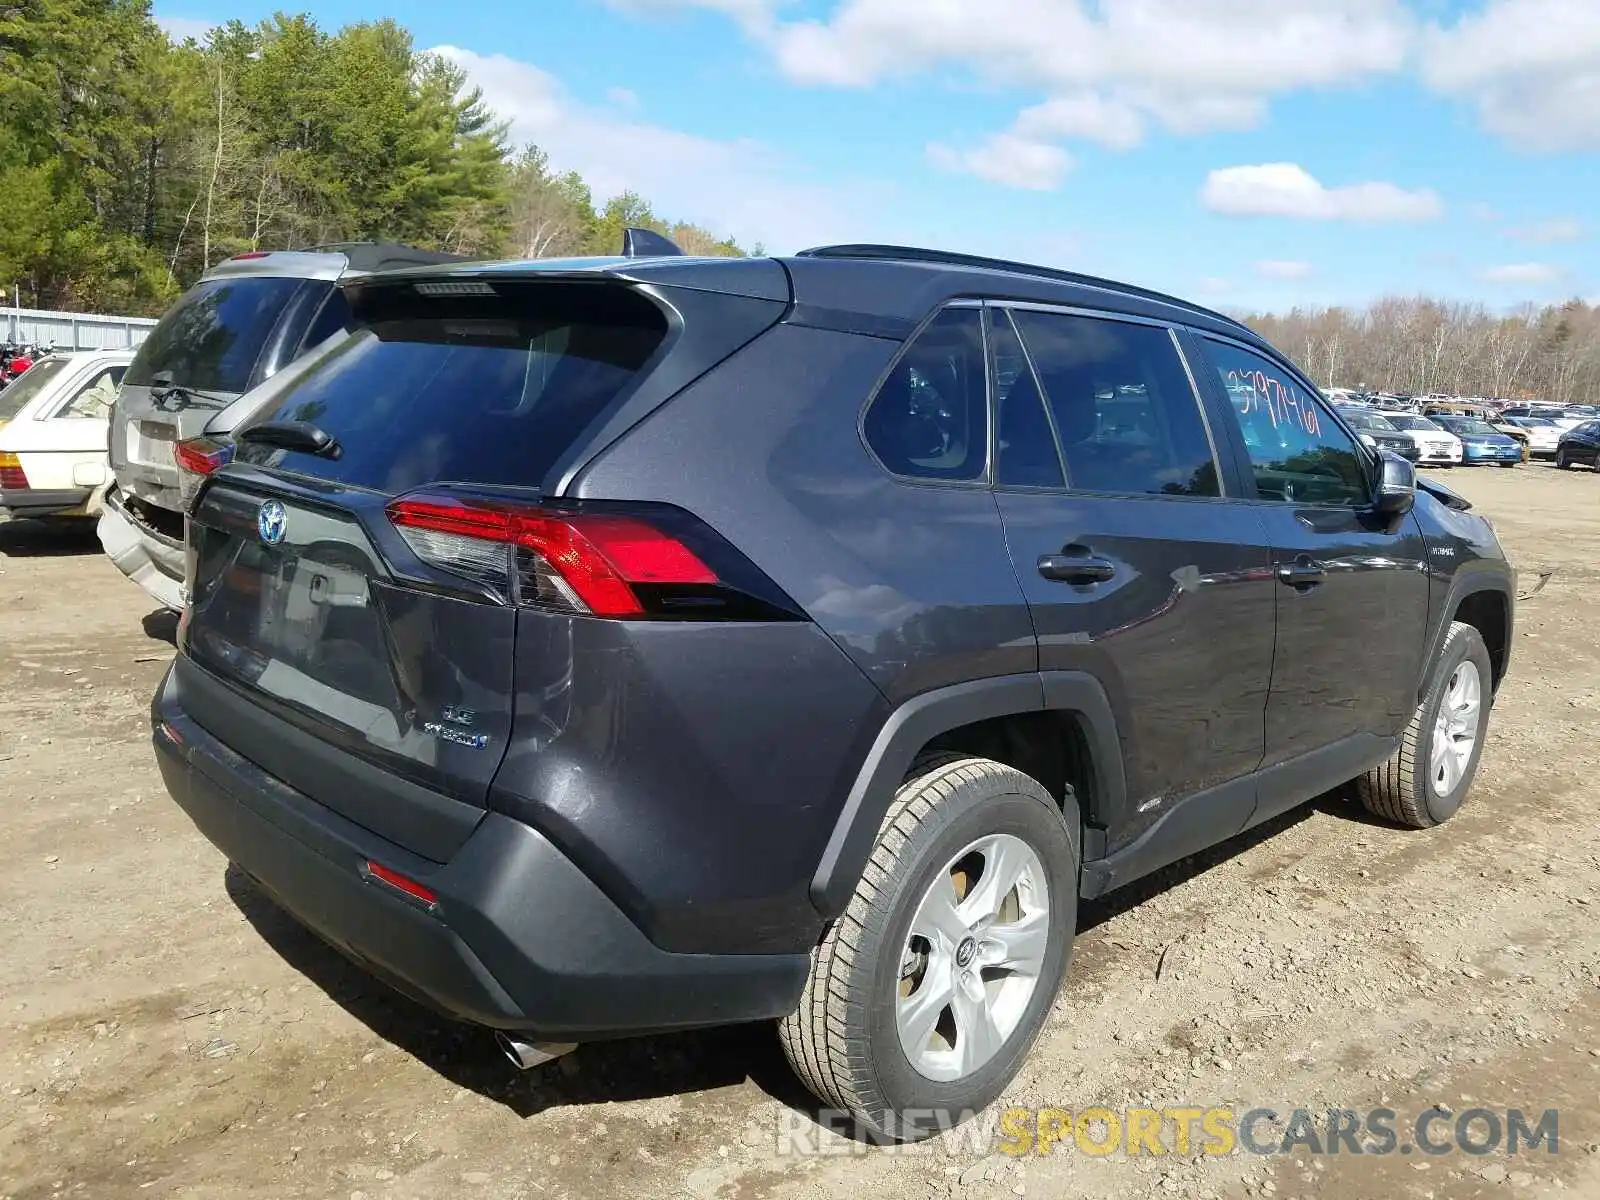
<path fill-rule="evenodd" d="M 989 451 L 984 322 L 946 309 L 906 349 L 867 406 L 862 432 L 896 475 L 976 480 Z"/>

